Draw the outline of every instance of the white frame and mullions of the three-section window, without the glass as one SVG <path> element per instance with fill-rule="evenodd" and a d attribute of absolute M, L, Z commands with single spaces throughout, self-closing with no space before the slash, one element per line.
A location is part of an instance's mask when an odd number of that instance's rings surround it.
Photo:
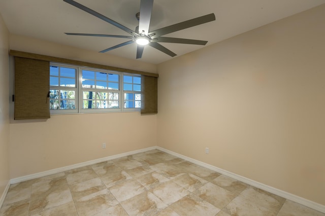
<path fill-rule="evenodd" d="M 132 76 L 132 77 L 139 77 L 141 78 L 141 75 L 137 74 L 129 74 L 129 73 L 121 73 L 118 71 L 113 70 L 105 70 L 105 69 L 99 69 L 99 68 L 93 68 L 93 67 L 84 67 L 84 66 L 77 66 L 77 65 L 70 65 L 70 64 L 62 64 L 62 63 L 55 63 L 50 62 L 50 66 L 58 66 L 58 67 L 70 67 L 75 68 L 76 73 L 76 94 L 75 94 L 75 107 L 74 110 L 50 110 L 51 115 L 60 115 L 60 114 L 82 114 L 82 113 L 115 113 L 115 112 L 140 112 L 141 108 L 124 108 L 124 93 L 139 93 L 141 94 L 141 91 L 124 91 L 123 90 L 123 75 L 125 76 Z M 117 74 L 119 75 L 119 90 L 108 90 L 108 89 L 89 89 L 89 91 L 105 91 L 105 92 L 118 92 L 118 103 L 119 103 L 119 109 L 83 109 L 83 89 L 82 88 L 82 70 L 91 70 L 95 72 L 102 72 L 107 74 Z M 55 87 L 55 89 L 62 88 L 67 89 L 66 87 Z M 141 86 L 141 88 L 143 88 Z M 50 86 L 50 89 L 51 88 Z M 69 88 L 71 89 L 71 88 Z"/>

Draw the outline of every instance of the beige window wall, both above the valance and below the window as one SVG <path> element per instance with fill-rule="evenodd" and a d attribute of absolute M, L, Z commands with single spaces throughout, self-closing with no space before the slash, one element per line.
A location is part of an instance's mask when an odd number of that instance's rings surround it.
<path fill-rule="evenodd" d="M 10 35 L 10 49 L 156 72 L 154 64 L 19 35 Z M 102 149 L 103 142 L 106 149 Z M 152 146 L 156 146 L 156 115 L 54 115 L 47 121 L 14 121 L 11 117 L 10 178 Z"/>

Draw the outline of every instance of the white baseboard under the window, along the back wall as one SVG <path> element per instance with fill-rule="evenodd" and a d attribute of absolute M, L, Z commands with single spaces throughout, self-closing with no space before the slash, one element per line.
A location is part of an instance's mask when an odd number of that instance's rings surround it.
<path fill-rule="evenodd" d="M 113 160 L 116 158 L 122 158 L 125 156 L 129 156 L 129 155 L 134 155 L 134 154 L 138 154 L 138 153 L 142 153 L 142 152 L 146 152 L 146 151 L 150 151 L 150 150 L 154 150 L 157 149 L 155 146 L 154 147 L 149 147 L 149 148 L 145 148 L 145 149 L 140 149 L 140 150 L 136 150 L 136 151 L 131 151 L 131 152 L 126 152 L 126 153 L 122 153 L 122 154 L 118 154 L 118 155 L 112 155 L 112 156 L 108 156 L 105 158 L 99 158 L 99 159 L 95 159 L 95 160 L 91 160 L 91 161 L 86 161 L 86 162 L 82 162 L 82 163 L 77 163 L 77 164 L 73 164 L 70 166 L 64 166 L 64 167 L 60 167 L 60 168 L 56 168 L 56 169 L 50 169 L 44 172 L 38 172 L 38 173 L 34 173 L 34 174 L 30 174 L 30 175 L 24 175 L 21 177 L 17 177 L 17 178 L 12 178 L 10 180 L 10 184 L 16 184 L 16 183 L 20 183 L 20 182 L 25 182 L 28 181 L 30 179 L 34 179 L 34 178 L 39 178 L 39 177 L 43 177 L 46 175 L 51 175 L 51 174 L 56 174 L 59 172 L 64 172 L 64 171 L 68 171 L 71 169 L 76 169 L 79 167 L 83 167 L 83 166 L 89 166 L 89 165 L 93 165 L 96 163 L 101 163 L 104 161 L 108 161 L 108 160 Z"/>

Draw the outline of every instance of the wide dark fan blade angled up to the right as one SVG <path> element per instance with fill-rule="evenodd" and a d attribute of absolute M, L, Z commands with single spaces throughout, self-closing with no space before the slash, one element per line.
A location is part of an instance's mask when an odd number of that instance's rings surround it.
<path fill-rule="evenodd" d="M 212 14 L 208 14 L 208 15 L 205 15 L 205 16 L 202 16 L 202 17 L 197 17 L 197 18 L 194 18 L 194 19 L 190 19 L 190 20 L 187 20 L 187 21 L 184 21 L 184 22 L 174 24 L 174 25 L 170 25 L 170 26 L 167 26 L 167 27 L 164 27 L 164 28 L 160 28 L 160 29 L 157 29 L 157 30 L 154 30 L 154 31 L 150 31 L 149 35 L 154 34 L 154 35 L 151 36 L 152 39 L 153 38 L 158 38 L 161 35 L 172 33 L 172 32 L 175 32 L 175 31 L 179 31 L 179 30 L 182 30 L 182 29 L 185 29 L 185 28 L 190 28 L 190 27 L 193 27 L 193 26 L 196 26 L 196 25 L 201 25 L 201 24 L 211 22 L 211 21 L 214 21 L 214 20 L 215 20 L 215 16 L 212 13 Z"/>

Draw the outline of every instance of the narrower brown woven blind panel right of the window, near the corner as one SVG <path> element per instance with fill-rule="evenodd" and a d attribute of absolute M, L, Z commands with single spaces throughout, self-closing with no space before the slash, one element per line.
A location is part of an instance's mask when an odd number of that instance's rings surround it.
<path fill-rule="evenodd" d="M 158 113 L 158 78 L 141 76 L 141 114 Z"/>

